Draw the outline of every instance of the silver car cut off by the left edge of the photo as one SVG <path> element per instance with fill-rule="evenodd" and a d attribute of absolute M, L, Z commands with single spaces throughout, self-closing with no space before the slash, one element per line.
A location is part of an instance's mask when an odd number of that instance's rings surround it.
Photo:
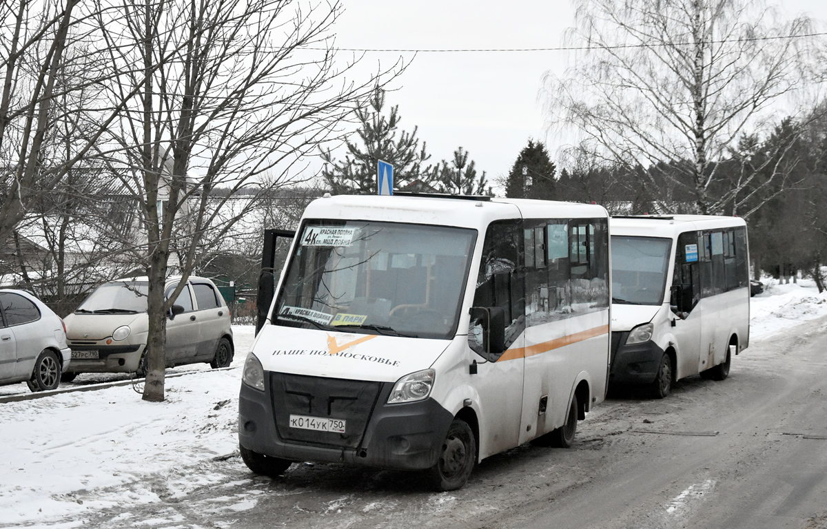
<path fill-rule="evenodd" d="M 0 289 L 0 385 L 55 389 L 69 364 L 63 320 L 30 293 Z"/>

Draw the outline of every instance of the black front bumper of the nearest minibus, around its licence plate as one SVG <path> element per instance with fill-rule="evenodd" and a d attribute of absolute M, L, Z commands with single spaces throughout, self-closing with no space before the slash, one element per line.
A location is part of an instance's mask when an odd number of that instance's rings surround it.
<path fill-rule="evenodd" d="M 381 384 L 364 433 L 351 446 L 332 446 L 337 434 L 313 441 L 289 441 L 276 427 L 269 374 L 265 391 L 241 383 L 238 442 L 247 450 L 291 461 L 325 461 L 385 469 L 427 469 L 436 464 L 453 416 L 433 398 L 417 403 L 386 404 L 393 383 Z M 324 379 L 318 379 L 323 384 Z M 275 399 L 281 402 L 280 398 Z M 350 421 L 349 417 L 344 418 Z M 353 421 L 355 424 L 357 421 Z M 348 422 L 350 427 L 351 422 Z M 349 432 L 351 433 L 351 432 Z M 359 432 L 352 432 L 359 436 Z M 327 438 L 325 436 L 328 436 Z"/>

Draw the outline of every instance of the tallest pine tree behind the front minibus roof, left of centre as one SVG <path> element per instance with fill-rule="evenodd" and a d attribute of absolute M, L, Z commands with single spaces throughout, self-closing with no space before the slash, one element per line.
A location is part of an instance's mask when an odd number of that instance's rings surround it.
<path fill-rule="evenodd" d="M 394 166 L 394 188 L 420 179 L 430 183 L 436 176 L 431 157 L 425 152 L 425 142 L 419 148 L 413 132 L 399 129 L 399 107 L 391 107 L 385 116 L 385 91 L 376 88 L 367 108 L 356 111 L 361 126 L 356 131 L 359 141 L 347 141 L 344 160 L 334 160 L 330 150 L 323 150 L 322 174 L 333 194 L 375 194 L 376 165 L 379 160 Z M 398 136 L 398 137 L 397 137 Z"/>

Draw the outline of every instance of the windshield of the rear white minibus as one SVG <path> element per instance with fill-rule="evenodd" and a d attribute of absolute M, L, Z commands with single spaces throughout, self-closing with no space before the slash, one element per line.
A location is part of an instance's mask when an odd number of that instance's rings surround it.
<path fill-rule="evenodd" d="M 660 305 L 672 239 L 612 236 L 612 303 Z"/>

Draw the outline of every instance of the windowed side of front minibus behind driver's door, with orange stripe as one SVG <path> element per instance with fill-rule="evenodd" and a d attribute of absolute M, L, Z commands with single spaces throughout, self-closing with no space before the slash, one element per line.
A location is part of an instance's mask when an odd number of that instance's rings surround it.
<path fill-rule="evenodd" d="M 563 426 L 581 372 L 592 377 L 593 394 L 605 393 L 609 361 L 606 220 L 527 220 L 523 238 L 526 331 L 521 444 Z"/>

